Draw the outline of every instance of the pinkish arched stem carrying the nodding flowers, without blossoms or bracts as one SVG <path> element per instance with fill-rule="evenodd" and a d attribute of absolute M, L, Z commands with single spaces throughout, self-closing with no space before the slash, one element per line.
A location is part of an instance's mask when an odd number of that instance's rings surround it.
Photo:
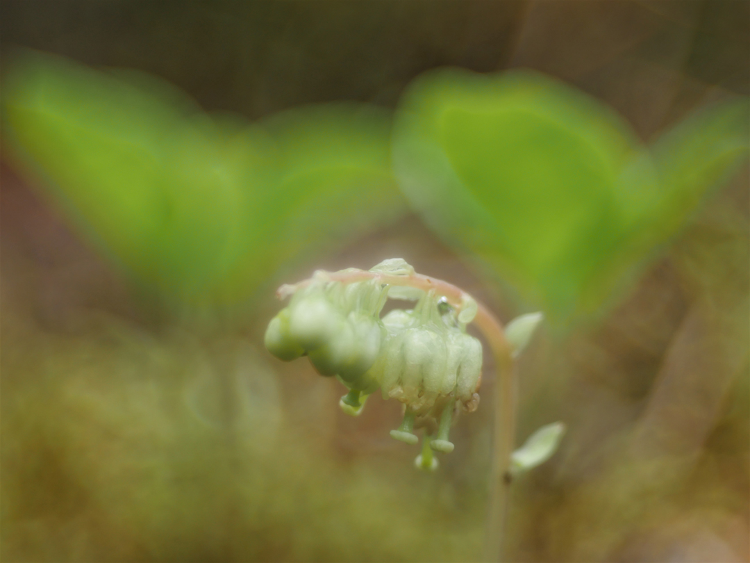
<path fill-rule="evenodd" d="M 341 281 L 349 284 L 355 281 L 376 279 L 386 285 L 418 288 L 423 291 L 434 290 L 446 297 L 448 303 L 460 311 L 471 300 L 469 294 L 436 278 L 426 275 L 391 275 L 367 270 L 353 270 L 349 272 L 325 272 L 318 270 L 314 274 L 316 279 Z M 300 281 L 295 285 L 282 285 L 276 292 L 279 299 L 284 299 L 299 288 L 311 283 L 311 279 Z M 487 340 L 492 351 L 497 378 L 493 396 L 493 438 L 492 458 L 490 466 L 490 501 L 487 513 L 487 528 L 484 536 L 484 561 L 502 561 L 505 526 L 508 515 L 508 495 L 511 486 L 511 454 L 513 453 L 516 420 L 516 376 L 511 348 L 505 339 L 502 324 L 484 307 L 477 303 L 474 318 L 476 327 Z"/>

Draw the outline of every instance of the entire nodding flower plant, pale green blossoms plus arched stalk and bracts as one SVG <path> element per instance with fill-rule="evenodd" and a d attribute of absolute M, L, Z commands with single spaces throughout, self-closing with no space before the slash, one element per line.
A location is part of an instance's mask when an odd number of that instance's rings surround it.
<path fill-rule="evenodd" d="M 547 459 L 561 434 L 537 440 L 553 444 L 551 450 L 535 446 L 532 454 L 512 457 L 514 358 L 529 342 L 541 314 L 512 321 L 506 336 L 499 321 L 469 294 L 417 274 L 401 258 L 384 260 L 370 270 L 318 270 L 312 278 L 281 286 L 277 296 L 291 300 L 270 322 L 266 348 L 285 361 L 308 356 L 320 375 L 337 378 L 348 390 L 339 402 L 347 414 L 359 415 L 377 390 L 384 399 L 401 402 L 404 420 L 391 435 L 416 444 L 415 430 L 425 427 L 422 453 L 415 461 L 425 471 L 438 466 L 433 451 L 454 449 L 449 432 L 455 414 L 478 407 L 482 348 L 466 333 L 466 325 L 475 322 L 498 370 L 485 553 L 497 560 L 512 477 Z M 389 297 L 416 303 L 413 309 L 395 309 L 381 318 Z"/>

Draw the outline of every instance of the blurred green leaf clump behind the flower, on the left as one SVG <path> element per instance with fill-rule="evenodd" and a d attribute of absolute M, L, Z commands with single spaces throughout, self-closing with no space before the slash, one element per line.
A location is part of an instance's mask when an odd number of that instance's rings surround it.
<path fill-rule="evenodd" d="M 282 264 L 404 207 L 389 115 L 362 104 L 248 124 L 153 77 L 40 53 L 14 62 L 3 94 L 14 161 L 169 303 L 247 303 Z"/>

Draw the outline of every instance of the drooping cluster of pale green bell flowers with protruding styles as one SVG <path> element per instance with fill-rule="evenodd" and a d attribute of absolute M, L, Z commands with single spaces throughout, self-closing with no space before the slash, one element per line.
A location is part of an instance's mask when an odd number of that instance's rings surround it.
<path fill-rule="evenodd" d="M 404 404 L 394 438 L 416 444 L 415 427 L 434 420 L 437 434 L 425 445 L 453 450 L 449 429 L 456 409 L 472 412 L 479 402 L 482 349 L 466 334 L 477 311 L 471 297 L 441 294 L 440 285 L 416 276 L 400 258 L 369 272 L 316 272 L 283 286 L 279 295 L 292 298 L 266 330 L 272 354 L 285 361 L 307 355 L 320 375 L 335 376 L 349 390 L 340 402 L 347 414 L 359 414 L 367 396 L 380 389 L 383 398 Z M 381 318 L 388 297 L 416 305 Z M 423 468 L 437 466 L 425 451 L 419 460 Z"/>

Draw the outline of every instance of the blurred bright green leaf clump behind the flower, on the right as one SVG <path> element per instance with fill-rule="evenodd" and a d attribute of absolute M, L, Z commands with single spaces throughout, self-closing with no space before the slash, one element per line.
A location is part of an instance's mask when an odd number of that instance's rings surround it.
<path fill-rule="evenodd" d="M 598 101 L 539 74 L 448 69 L 397 116 L 402 188 L 449 242 L 558 318 L 600 306 L 748 146 L 748 104 L 642 146 Z"/>

